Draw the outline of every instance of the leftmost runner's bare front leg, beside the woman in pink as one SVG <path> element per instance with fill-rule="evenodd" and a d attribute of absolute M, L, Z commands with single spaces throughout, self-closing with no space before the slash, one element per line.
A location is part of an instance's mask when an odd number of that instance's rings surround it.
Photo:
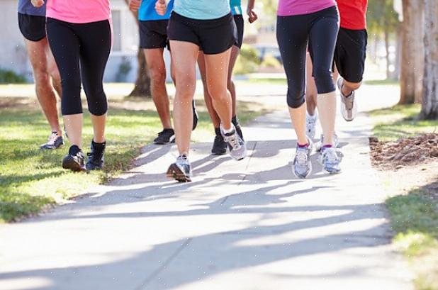
<path fill-rule="evenodd" d="M 62 136 L 57 111 L 57 100 L 53 90 L 46 52 L 49 49 L 47 38 L 38 42 L 25 40 L 30 64 L 33 68 L 35 91 L 52 132 Z M 59 75 L 59 74 L 58 74 Z M 59 82 L 58 82 L 59 84 Z"/>

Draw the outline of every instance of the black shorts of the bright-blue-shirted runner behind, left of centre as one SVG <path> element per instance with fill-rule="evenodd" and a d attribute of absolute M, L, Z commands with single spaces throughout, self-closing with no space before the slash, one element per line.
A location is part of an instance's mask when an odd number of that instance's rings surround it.
<path fill-rule="evenodd" d="M 140 21 L 140 48 L 166 48 L 168 20 Z"/>

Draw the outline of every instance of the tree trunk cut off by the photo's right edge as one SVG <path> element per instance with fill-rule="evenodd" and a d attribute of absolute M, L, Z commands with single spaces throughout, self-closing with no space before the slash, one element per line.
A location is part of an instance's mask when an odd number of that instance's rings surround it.
<path fill-rule="evenodd" d="M 425 74 L 420 118 L 438 119 L 438 1 L 425 0 Z"/>

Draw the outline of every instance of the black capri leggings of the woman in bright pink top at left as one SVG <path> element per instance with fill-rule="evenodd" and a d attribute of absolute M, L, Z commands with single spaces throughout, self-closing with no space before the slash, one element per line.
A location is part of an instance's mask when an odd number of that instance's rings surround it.
<path fill-rule="evenodd" d="M 81 77 L 90 113 L 105 114 L 103 72 L 111 50 L 109 21 L 78 24 L 47 18 L 47 38 L 61 75 L 62 115 L 82 113 Z"/>

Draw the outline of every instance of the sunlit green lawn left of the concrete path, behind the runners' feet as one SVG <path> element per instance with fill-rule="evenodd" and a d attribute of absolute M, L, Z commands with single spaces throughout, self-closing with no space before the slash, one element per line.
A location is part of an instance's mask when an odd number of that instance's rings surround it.
<path fill-rule="evenodd" d="M 239 104 L 242 124 L 265 113 L 253 105 L 245 102 Z M 198 109 L 200 121 L 193 139 L 205 140 L 203 136 L 210 136 L 213 128 L 205 108 L 199 106 Z M 161 130 L 160 124 L 155 111 L 110 106 L 106 133 L 106 167 L 101 172 L 77 174 L 60 167 L 62 157 L 67 154 L 68 144 L 60 150 L 39 150 L 39 145 L 46 140 L 48 132 L 45 118 L 38 108 L 0 107 L 0 223 L 17 221 L 23 216 L 36 214 L 47 206 L 82 194 L 90 186 L 107 182 L 130 167 L 133 159 L 139 155 L 140 147 L 150 143 Z M 91 122 L 86 113 L 84 147 L 91 138 Z"/>

